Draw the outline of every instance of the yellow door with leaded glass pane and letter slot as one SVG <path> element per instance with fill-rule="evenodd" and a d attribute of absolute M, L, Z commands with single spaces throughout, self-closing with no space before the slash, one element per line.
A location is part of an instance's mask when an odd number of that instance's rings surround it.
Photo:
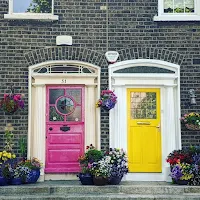
<path fill-rule="evenodd" d="M 160 89 L 127 89 L 130 172 L 161 172 Z"/>

